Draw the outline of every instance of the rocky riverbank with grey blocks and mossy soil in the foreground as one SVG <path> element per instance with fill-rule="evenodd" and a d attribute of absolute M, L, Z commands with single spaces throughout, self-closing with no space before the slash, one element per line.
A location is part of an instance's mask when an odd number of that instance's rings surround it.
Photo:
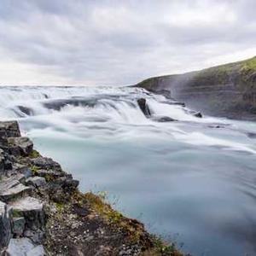
<path fill-rule="evenodd" d="M 0 122 L 0 255 L 183 255 Z"/>

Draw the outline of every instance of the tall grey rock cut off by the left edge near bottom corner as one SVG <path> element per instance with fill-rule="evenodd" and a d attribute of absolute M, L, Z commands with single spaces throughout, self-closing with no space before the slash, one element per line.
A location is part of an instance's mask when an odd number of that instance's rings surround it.
<path fill-rule="evenodd" d="M 10 238 L 9 209 L 3 201 L 0 201 L 0 255 L 2 255 L 3 248 L 8 246 Z"/>

